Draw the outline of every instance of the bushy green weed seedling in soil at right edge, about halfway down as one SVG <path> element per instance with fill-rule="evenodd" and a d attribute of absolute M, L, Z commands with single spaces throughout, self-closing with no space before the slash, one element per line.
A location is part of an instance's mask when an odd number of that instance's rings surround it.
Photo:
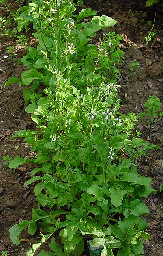
<path fill-rule="evenodd" d="M 152 95 L 149 96 L 144 106 L 146 107 L 146 110 L 145 112 L 140 113 L 139 116 L 143 119 L 146 118 L 147 127 L 149 129 L 149 132 L 151 132 L 152 124 L 163 118 L 163 112 L 160 112 L 160 107 L 162 106 L 162 103 L 159 98 Z"/>

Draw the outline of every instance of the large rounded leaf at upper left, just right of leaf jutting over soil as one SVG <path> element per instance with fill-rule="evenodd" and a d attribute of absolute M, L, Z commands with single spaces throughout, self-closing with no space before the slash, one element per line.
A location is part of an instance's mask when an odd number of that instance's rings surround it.
<path fill-rule="evenodd" d="M 43 74 L 37 71 L 37 69 L 29 69 L 22 74 L 23 85 L 29 85 L 34 79 L 42 79 Z"/>

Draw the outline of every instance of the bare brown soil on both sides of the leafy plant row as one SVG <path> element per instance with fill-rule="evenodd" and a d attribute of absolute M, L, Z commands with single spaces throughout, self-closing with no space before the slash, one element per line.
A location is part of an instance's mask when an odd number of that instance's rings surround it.
<path fill-rule="evenodd" d="M 11 1 L 12 3 L 12 1 Z M 149 95 L 156 95 L 163 100 L 163 32 L 156 35 L 153 41 L 149 42 L 146 49 L 144 37 L 150 28 L 148 20 L 154 19 L 156 12 L 156 23 L 154 32 L 162 29 L 163 15 L 159 7 L 144 8 L 142 0 L 109 0 L 103 1 L 100 6 L 99 1 L 86 1 L 85 6 L 99 10 L 99 15 L 108 15 L 115 18 L 117 25 L 110 30 L 122 34 L 122 50 L 125 51 L 125 61 L 120 69 L 119 84 L 121 85 L 119 97 L 123 99 L 122 112 L 135 112 L 143 110 L 143 104 Z M 11 7 L 11 6 L 10 6 Z M 14 2 L 12 9 L 19 6 Z M 7 17 L 7 12 L 3 10 L 1 16 Z M 108 32 L 108 30 L 103 31 Z M 18 85 L 11 85 L 3 88 L 5 81 L 12 75 L 20 77 L 24 67 L 17 62 L 11 61 L 9 57 L 4 59 L 7 45 L 15 46 L 18 58 L 26 53 L 19 46 L 15 39 L 0 37 L 0 157 L 28 156 L 30 148 L 25 147 L 21 139 L 9 140 L 9 138 L 19 129 L 32 129 L 31 119 L 24 111 L 23 88 Z M 30 42 L 32 44 L 32 41 Z M 132 61 L 139 62 L 140 68 L 136 70 L 136 75 L 131 74 L 129 65 Z M 138 127 L 139 128 L 139 127 Z M 146 256 L 163 256 L 163 193 L 159 192 L 160 184 L 163 182 L 163 124 L 159 122 L 149 134 L 146 126 L 141 127 L 142 137 L 159 145 L 159 149 L 150 151 L 137 163 L 142 175 L 152 178 L 153 188 L 157 189 L 157 194 L 152 194 L 145 199 L 150 213 L 145 217 L 148 222 L 148 232 L 151 240 L 145 241 Z M 7 250 L 11 256 L 24 256 L 27 248 L 37 241 L 37 236 L 23 233 L 20 246 L 16 247 L 9 239 L 9 227 L 17 224 L 21 219 L 31 218 L 31 207 L 37 203 L 32 186 L 24 188 L 23 183 L 29 179 L 32 166 L 23 166 L 24 170 L 9 170 L 4 165 L 0 165 L 0 251 Z M 27 170 L 26 170 L 27 169 Z M 2 189 L 3 188 L 3 189 Z M 6 206 L 6 200 L 16 202 L 14 208 Z M 85 252 L 85 255 L 87 253 Z"/>

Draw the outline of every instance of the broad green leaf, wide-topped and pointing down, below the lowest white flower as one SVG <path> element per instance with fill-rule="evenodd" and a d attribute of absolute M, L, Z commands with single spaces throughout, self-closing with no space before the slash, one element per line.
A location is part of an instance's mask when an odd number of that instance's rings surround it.
<path fill-rule="evenodd" d="M 120 206 L 127 191 L 120 188 L 110 188 L 109 191 L 111 192 L 111 203 L 116 207 Z"/>

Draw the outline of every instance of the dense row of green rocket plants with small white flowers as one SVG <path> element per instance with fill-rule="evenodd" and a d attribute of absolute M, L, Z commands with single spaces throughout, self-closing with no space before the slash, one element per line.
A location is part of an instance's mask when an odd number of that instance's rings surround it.
<path fill-rule="evenodd" d="M 41 0 L 17 11 L 18 30 L 32 22 L 38 46 L 22 58 L 27 70 L 21 79 L 11 77 L 5 86 L 28 85 L 23 91 L 26 112 L 37 129 L 20 130 L 12 138 L 23 137 L 37 154 L 17 156 L 9 167 L 38 165 L 25 185 L 36 182 L 39 207 L 32 209 L 31 220 L 10 228 L 10 238 L 19 245 L 23 230 L 31 235 L 37 228 L 44 231 L 27 256 L 47 240 L 49 251 L 38 256 L 80 256 L 89 240 L 93 247 L 103 245 L 102 256 L 143 255 L 141 237 L 148 240 L 149 235 L 140 218 L 148 213 L 142 197 L 156 191 L 134 162 L 154 145 L 132 135 L 134 113 L 119 113 L 121 36 L 109 32 L 90 44 L 97 31 L 116 21 L 90 9 L 74 15 L 79 4 Z M 56 231 L 61 244 L 55 241 Z"/>

